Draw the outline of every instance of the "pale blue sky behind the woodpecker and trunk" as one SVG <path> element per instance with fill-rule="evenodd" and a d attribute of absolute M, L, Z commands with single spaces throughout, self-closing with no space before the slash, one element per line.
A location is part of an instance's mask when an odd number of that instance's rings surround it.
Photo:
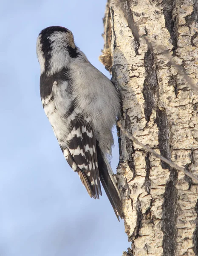
<path fill-rule="evenodd" d="M 106 0 L 1 2 L 0 256 L 121 256 L 130 244 L 103 191 L 91 199 L 65 161 L 40 101 L 36 40 L 65 26 L 89 61 L 103 48 Z M 118 146 L 112 167 L 118 163 Z"/>

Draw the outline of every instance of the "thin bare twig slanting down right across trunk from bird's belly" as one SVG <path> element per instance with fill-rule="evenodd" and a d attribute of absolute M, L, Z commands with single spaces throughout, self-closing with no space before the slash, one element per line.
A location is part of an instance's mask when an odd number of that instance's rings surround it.
<path fill-rule="evenodd" d="M 153 154 L 155 157 L 161 159 L 162 161 L 164 161 L 165 163 L 167 163 L 168 165 L 170 165 L 171 167 L 183 172 L 185 175 L 187 175 L 188 177 L 190 177 L 193 180 L 196 180 L 198 182 L 198 178 L 195 177 L 194 175 L 192 175 L 190 172 L 188 172 L 186 169 L 176 165 L 175 163 L 171 162 L 170 160 L 168 160 L 165 157 L 162 157 L 160 154 L 157 154 L 156 151 L 154 151 L 153 149 L 149 148 L 148 146 L 142 144 L 141 142 L 139 142 L 139 140 L 137 140 L 135 137 L 133 137 L 133 135 L 128 132 L 126 129 L 123 128 L 121 122 L 118 122 L 118 126 L 119 128 L 122 130 L 122 132 L 131 140 L 133 140 L 134 143 L 138 144 L 139 146 L 141 146 L 142 148 L 144 148 L 146 151 L 150 152 L 151 154 Z"/>

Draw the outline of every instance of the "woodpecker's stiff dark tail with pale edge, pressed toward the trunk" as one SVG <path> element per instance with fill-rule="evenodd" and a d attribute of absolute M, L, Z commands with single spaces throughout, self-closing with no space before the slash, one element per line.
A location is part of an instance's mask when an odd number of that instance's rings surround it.
<path fill-rule="evenodd" d="M 99 148 L 97 142 L 96 150 L 100 181 L 119 220 L 119 217 L 122 218 L 122 203 L 120 193 L 116 185 L 116 178 L 113 176 L 113 171 L 110 167 L 110 164 Z"/>

